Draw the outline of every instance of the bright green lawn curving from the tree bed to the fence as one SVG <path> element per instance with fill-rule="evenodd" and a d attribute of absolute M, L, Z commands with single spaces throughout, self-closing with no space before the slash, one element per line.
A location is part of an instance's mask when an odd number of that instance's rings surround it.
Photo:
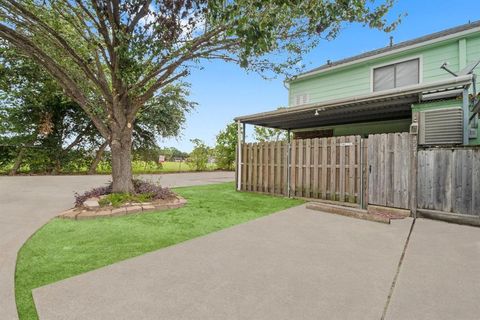
<path fill-rule="evenodd" d="M 21 248 L 15 296 L 21 320 L 38 319 L 32 289 L 302 203 L 240 193 L 232 183 L 177 188 L 185 207 L 117 218 L 53 219 Z"/>

